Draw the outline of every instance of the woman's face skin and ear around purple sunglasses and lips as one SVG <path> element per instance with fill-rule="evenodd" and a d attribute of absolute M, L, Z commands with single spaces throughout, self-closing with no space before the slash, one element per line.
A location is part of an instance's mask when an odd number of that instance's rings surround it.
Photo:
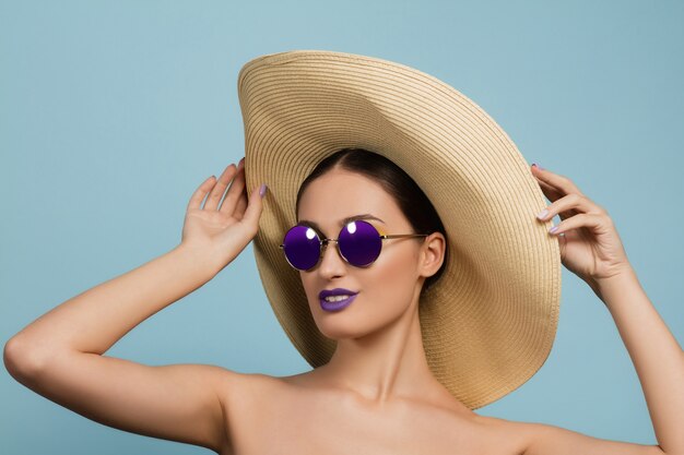
<path fill-rule="evenodd" d="M 359 173 L 332 169 L 314 180 L 302 194 L 297 219 L 311 221 L 320 235 L 337 239 L 344 219 L 365 215 L 380 234 L 411 234 L 401 209 L 382 187 Z M 374 219 L 374 218 L 378 219 Z M 299 272 L 319 331 L 329 338 L 357 338 L 373 333 L 417 304 L 421 247 L 424 238 L 382 240 L 378 259 L 366 267 L 346 263 L 337 243 L 329 242 L 318 265 Z M 319 294 L 343 288 L 357 292 L 339 311 L 321 307 Z"/>

